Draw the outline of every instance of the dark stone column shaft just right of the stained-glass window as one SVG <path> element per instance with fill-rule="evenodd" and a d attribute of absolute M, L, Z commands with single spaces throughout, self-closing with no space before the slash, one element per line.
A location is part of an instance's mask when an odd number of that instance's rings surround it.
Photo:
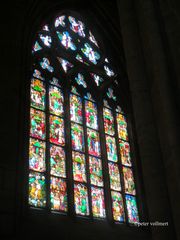
<path fill-rule="evenodd" d="M 152 227 L 152 238 L 169 240 L 173 237 L 171 208 L 154 119 L 149 75 L 146 71 L 144 49 L 134 8 L 135 1 L 118 0 L 117 3 L 149 221 L 169 222 L 168 227 Z"/>

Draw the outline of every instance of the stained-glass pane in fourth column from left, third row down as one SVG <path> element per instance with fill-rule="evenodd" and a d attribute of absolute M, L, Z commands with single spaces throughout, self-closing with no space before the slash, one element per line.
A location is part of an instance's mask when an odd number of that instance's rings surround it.
<path fill-rule="evenodd" d="M 101 159 L 91 156 L 89 157 L 89 172 L 91 184 L 102 187 L 103 175 Z"/>

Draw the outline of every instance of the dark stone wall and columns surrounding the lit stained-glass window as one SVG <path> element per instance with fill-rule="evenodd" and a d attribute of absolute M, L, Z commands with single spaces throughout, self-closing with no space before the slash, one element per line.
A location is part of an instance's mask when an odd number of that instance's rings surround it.
<path fill-rule="evenodd" d="M 4 2 L 1 7 L 0 236 L 2 239 L 180 239 L 179 20 L 170 1 Z M 146 3 L 146 4 L 145 4 Z M 88 7 L 87 7 L 87 4 Z M 169 5 L 170 4 L 170 5 Z M 170 6 L 170 7 L 169 7 Z M 27 211 L 24 203 L 24 130 L 33 34 L 49 12 L 71 7 L 95 20 L 107 53 L 126 67 L 122 88 L 132 101 L 144 220 L 169 227 L 130 228 Z M 98 16 L 98 17 L 97 17 Z M 148 17 L 147 17 L 148 16 Z M 88 18 L 88 16 L 87 16 Z M 121 29 L 120 29 L 121 27 Z M 109 36 L 108 37 L 108 32 Z M 122 49 L 124 47 L 124 50 Z M 111 50 L 109 50 L 111 49 Z M 126 77 L 126 72 L 123 73 Z M 173 79 L 172 79 L 173 78 Z M 127 79 L 126 79 L 127 80 Z M 169 90 L 169 91 L 168 91 Z M 167 107 L 167 108 L 166 108 Z M 170 116 L 169 116 L 170 115 Z M 171 169 L 171 171 L 169 171 Z M 39 231 L 37 231 L 39 229 Z M 178 238 L 179 237 L 179 238 Z"/>

